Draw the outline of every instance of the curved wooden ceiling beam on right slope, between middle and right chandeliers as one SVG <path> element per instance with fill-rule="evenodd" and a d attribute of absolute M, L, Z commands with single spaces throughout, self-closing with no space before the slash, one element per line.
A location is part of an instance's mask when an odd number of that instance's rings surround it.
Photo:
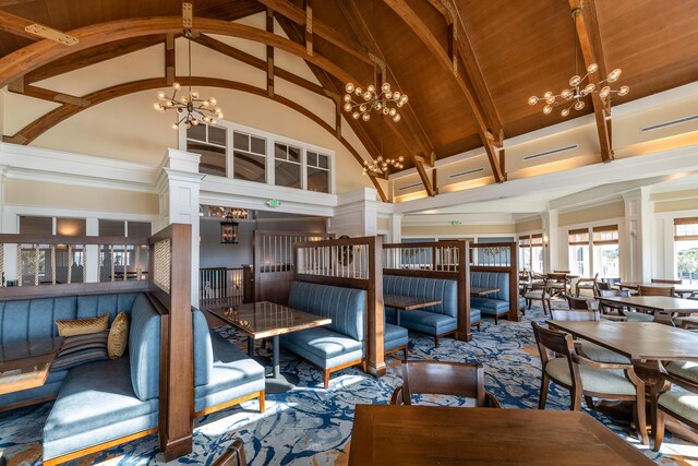
<path fill-rule="evenodd" d="M 488 118 L 483 111 L 479 98 L 473 92 L 472 87 L 466 83 L 462 76 L 454 73 L 453 61 L 446 55 L 446 51 L 442 47 L 441 43 L 433 33 L 421 20 L 421 17 L 410 8 L 406 0 L 384 0 L 384 2 L 393 9 L 398 16 L 407 23 L 407 25 L 414 32 L 414 34 L 422 40 L 422 43 L 429 48 L 430 52 L 436 60 L 436 62 L 448 73 L 453 82 L 457 85 L 460 94 L 467 101 L 472 111 L 478 127 L 478 134 L 482 141 L 482 145 L 488 154 L 490 166 L 492 167 L 492 174 L 496 182 L 503 182 L 506 180 L 506 175 L 500 168 L 500 160 L 497 157 L 497 150 L 494 144 L 495 138 L 488 135 Z"/>

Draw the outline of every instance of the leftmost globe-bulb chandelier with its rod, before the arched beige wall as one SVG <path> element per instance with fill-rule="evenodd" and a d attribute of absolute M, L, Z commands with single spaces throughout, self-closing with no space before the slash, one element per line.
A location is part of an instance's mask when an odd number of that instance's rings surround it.
<path fill-rule="evenodd" d="M 189 93 L 186 95 L 177 96 L 182 86 L 180 83 L 172 83 L 172 95 L 168 97 L 165 91 L 158 91 L 157 99 L 153 107 L 159 111 L 177 110 L 177 122 L 172 123 L 172 129 L 177 130 L 181 123 L 186 129 L 196 127 L 202 123 L 216 123 L 216 118 L 222 118 L 222 110 L 216 107 L 216 99 L 201 98 L 196 91 L 192 91 L 192 32 L 184 31 L 189 45 Z"/>

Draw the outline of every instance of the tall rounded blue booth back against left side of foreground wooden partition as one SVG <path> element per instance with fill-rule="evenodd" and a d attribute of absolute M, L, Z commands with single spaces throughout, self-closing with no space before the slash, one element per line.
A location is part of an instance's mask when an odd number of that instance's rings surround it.
<path fill-rule="evenodd" d="M 143 294 L 135 298 L 131 309 L 129 362 L 135 396 L 142 402 L 157 398 L 160 380 L 160 314 Z"/>

